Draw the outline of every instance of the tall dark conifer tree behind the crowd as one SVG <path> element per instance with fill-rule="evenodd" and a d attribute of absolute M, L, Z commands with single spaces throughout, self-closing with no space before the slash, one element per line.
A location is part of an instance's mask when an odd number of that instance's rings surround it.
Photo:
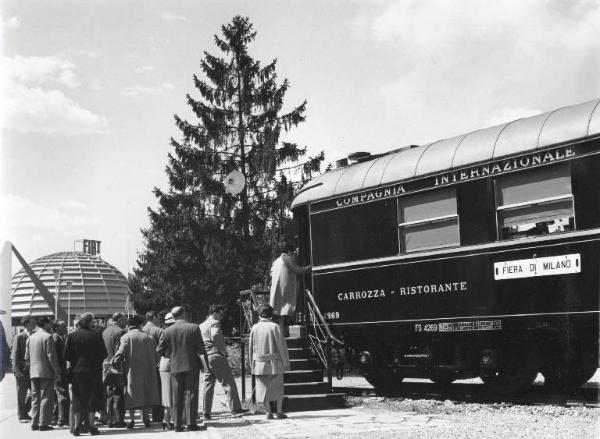
<path fill-rule="evenodd" d="M 289 82 L 277 82 L 277 60 L 262 66 L 249 55 L 256 37 L 249 19 L 236 16 L 221 33 L 221 56 L 204 52 L 203 76 L 193 76 L 199 97 L 187 95 L 197 120 L 175 115 L 182 138 L 171 139 L 169 189 L 154 189 L 159 208 L 149 209 L 132 282 L 139 311 L 183 303 L 201 314 L 208 303 L 231 302 L 263 281 L 271 245 L 288 226 L 294 189 L 324 158 L 321 152 L 299 163 L 306 148 L 280 142 L 305 120 L 306 101 L 283 111 Z M 239 195 L 223 185 L 234 170 L 246 181 Z"/>

